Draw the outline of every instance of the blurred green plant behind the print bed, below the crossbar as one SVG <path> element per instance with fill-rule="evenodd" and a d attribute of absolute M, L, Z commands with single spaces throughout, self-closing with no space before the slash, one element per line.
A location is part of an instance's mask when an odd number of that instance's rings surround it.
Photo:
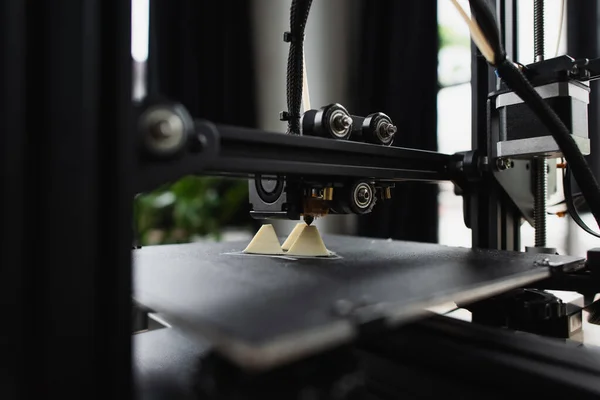
<path fill-rule="evenodd" d="M 188 176 L 139 195 L 134 224 L 141 245 L 219 240 L 225 226 L 249 228 L 248 181 Z"/>

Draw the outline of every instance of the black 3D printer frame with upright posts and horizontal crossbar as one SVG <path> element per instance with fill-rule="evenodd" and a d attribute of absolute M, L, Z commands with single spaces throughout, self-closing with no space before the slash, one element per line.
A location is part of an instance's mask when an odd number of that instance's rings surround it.
<path fill-rule="evenodd" d="M 516 1 L 497 3 L 506 48 L 516 52 Z M 589 15 L 594 7 L 586 6 Z M 189 173 L 323 176 L 335 167 L 339 176 L 464 177 L 454 169 L 456 156 L 210 122 L 194 125 L 190 140 L 197 143 L 185 156 L 141 156 L 140 137 L 132 135 L 139 131 L 131 105 L 131 4 L 6 0 L 1 9 L 2 229 L 13 238 L 0 252 L 0 304 L 10 321 L 2 334 L 6 398 L 83 390 L 132 397 L 130 221 L 138 191 Z M 570 31 L 595 32 L 595 21 L 586 22 Z M 474 56 L 473 148 L 483 154 L 490 146 L 483 99 L 494 82 Z M 324 151 L 326 165 L 318 157 Z M 520 213 L 492 179 L 469 194 L 466 216 L 474 247 L 519 249 Z"/>

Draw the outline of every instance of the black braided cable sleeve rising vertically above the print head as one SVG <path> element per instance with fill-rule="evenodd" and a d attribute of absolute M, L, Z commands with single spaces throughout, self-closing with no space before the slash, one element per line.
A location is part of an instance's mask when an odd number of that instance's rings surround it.
<path fill-rule="evenodd" d="M 312 0 L 293 0 L 290 9 L 290 42 L 287 67 L 288 133 L 300 134 L 300 107 L 302 105 L 302 82 L 304 75 L 304 30 Z"/>

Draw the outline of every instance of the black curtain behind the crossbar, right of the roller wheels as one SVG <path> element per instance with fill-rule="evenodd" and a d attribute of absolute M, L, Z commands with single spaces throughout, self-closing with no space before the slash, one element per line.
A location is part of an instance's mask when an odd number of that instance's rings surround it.
<path fill-rule="evenodd" d="M 437 149 L 437 2 L 362 1 L 355 109 L 388 114 L 394 145 Z M 391 201 L 360 217 L 359 235 L 422 242 L 438 239 L 438 187 L 399 183 Z"/>

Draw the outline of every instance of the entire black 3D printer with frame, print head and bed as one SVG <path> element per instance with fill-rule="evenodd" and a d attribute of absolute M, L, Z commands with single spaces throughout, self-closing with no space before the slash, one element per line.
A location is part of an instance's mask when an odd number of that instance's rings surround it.
<path fill-rule="evenodd" d="M 498 1 L 495 9 L 470 2 L 473 18 L 465 20 L 479 49 L 473 52 L 474 146 L 453 155 L 393 146 L 402 128 L 386 110 L 357 116 L 333 103 L 300 113 L 310 1 L 292 2 L 296 19 L 284 36 L 290 96 L 281 117 L 289 122 L 288 134 L 196 118 L 177 99 L 152 97 L 132 107 L 124 89 L 131 74 L 122 39 L 131 13 L 124 2 L 21 3 L 3 4 L 14 17 L 3 16 L 9 40 L 2 54 L 10 57 L 2 109 L 9 111 L 7 131 L 22 134 L 3 137 L 3 159 L 19 167 L 3 170 L 5 187 L 17 193 L 7 199 L 4 227 L 21 239 L 3 243 L 2 252 L 8 278 L 2 296 L 16 305 L 7 307 L 14 322 L 7 342 L 18 349 L 7 356 L 14 376 L 6 386 L 9 398 L 83 389 L 121 398 L 134 385 L 143 396 L 167 398 L 600 394 L 597 351 L 510 330 L 569 337 L 580 328 L 581 308 L 541 289 L 578 291 L 585 306 L 593 306 L 600 284 L 597 251 L 587 259 L 557 255 L 544 235 L 548 159 L 566 159 L 565 176 L 577 181 L 600 218 L 600 189 L 583 157 L 590 151 L 586 82 L 599 76 L 599 62 L 545 60 L 543 46 L 531 65 L 511 61 L 514 54 L 506 49 L 513 40 L 514 1 Z M 538 19 L 542 3 L 536 1 Z M 64 20 L 71 22 L 64 30 L 39 34 Z M 541 23 L 536 34 L 543 36 Z M 89 48 L 79 42 L 83 36 Z M 23 49 L 51 49 L 54 39 L 69 46 L 41 52 L 41 72 L 33 73 L 33 53 Z M 61 53 L 65 48 L 81 53 Z M 70 68 L 61 67 L 65 61 Z M 87 71 L 95 83 L 61 86 L 74 71 Z M 50 101 L 54 93 L 72 97 Z M 34 112 L 42 129 L 34 129 Z M 73 133 L 79 128 L 91 132 L 90 141 Z M 47 136 L 36 139 L 32 132 Z M 31 150 L 37 140 L 41 150 Z M 68 152 L 67 145 L 89 151 Z M 87 175 L 73 185 L 69 178 L 77 167 Z M 473 249 L 331 236 L 328 245 L 342 259 L 292 262 L 226 254 L 239 243 L 157 246 L 133 251 L 132 274 L 125 204 L 135 193 L 187 174 L 248 178 L 254 217 L 307 222 L 368 213 L 399 182 L 449 180 L 465 199 Z M 23 182 L 40 177 L 44 208 L 32 214 L 40 218 L 23 217 L 30 204 L 25 194 L 39 191 Z M 569 211 L 582 223 L 565 187 Z M 60 190 L 74 193 L 76 201 L 61 206 Z M 89 211 L 108 207 L 127 229 L 117 233 L 111 218 Z M 62 243 L 51 234 L 62 225 L 49 223 L 60 222 L 59 215 L 77 228 L 71 232 L 76 245 L 64 240 L 68 251 L 52 246 Z M 535 246 L 525 253 L 514 251 L 522 219 L 536 227 Z M 31 251 L 24 221 L 42 226 L 48 239 L 40 251 Z M 62 269 L 49 266 L 59 260 Z M 173 327 L 136 335 L 133 352 L 132 295 L 135 312 L 158 313 Z M 474 323 L 425 311 L 446 301 L 471 309 Z M 43 334 L 34 329 L 38 320 L 29 318 L 35 315 L 48 327 Z M 116 366 L 102 364 L 108 360 Z M 29 379 L 36 361 L 39 386 Z M 477 382 L 468 379 L 475 373 Z"/>

